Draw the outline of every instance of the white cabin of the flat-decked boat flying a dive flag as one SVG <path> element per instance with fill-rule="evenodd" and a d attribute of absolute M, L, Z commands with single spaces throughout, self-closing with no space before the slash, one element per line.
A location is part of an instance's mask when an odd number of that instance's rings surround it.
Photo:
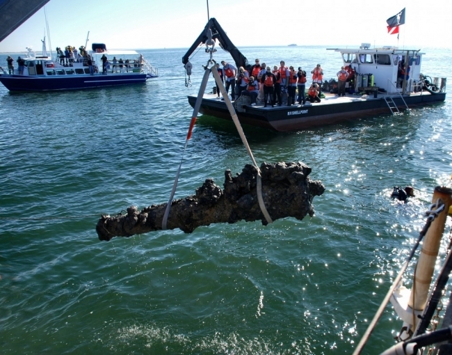
<path fill-rule="evenodd" d="M 359 49 L 334 49 L 340 52 L 344 66 L 356 72 L 355 91 L 375 86 L 385 93 L 412 93 L 421 90 L 422 54 L 418 50 L 397 47 L 371 48 L 362 43 Z M 406 73 L 406 74 L 404 74 Z"/>

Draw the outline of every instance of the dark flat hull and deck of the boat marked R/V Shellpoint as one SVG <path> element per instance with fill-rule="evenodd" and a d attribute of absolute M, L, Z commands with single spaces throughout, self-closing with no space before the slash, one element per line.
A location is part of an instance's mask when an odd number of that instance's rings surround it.
<path fill-rule="evenodd" d="M 433 94 L 426 90 L 403 96 L 398 93 L 378 93 L 376 96 L 373 93 L 371 95 L 346 94 L 344 97 L 331 93 L 323 95 L 325 97 L 321 102 L 306 102 L 304 105 L 282 104 L 282 106 L 271 107 L 267 104 L 267 107 L 264 107 L 264 103 L 259 100 L 255 106 L 242 104 L 239 100 L 233 104 L 241 123 L 270 128 L 278 132 L 288 132 L 378 113 L 398 113 L 407 107 L 443 102 L 446 97 L 446 93 Z M 192 107 L 195 107 L 196 99 L 195 96 L 188 96 L 188 102 Z M 231 114 L 223 98 L 213 93 L 203 95 L 200 113 L 231 120 Z"/>

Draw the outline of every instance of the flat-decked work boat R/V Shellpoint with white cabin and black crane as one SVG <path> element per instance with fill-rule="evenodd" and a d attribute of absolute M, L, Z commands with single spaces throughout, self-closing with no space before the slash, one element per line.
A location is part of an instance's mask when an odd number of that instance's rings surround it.
<path fill-rule="evenodd" d="M 191 68 L 188 56 L 198 45 L 206 43 L 207 31 L 211 31 L 212 39 L 218 40 L 220 47 L 231 54 L 236 68 L 243 67 L 250 72 L 248 60 L 229 40 L 214 18 L 209 20 L 204 31 L 182 58 L 186 69 Z M 239 121 L 286 132 L 378 113 L 394 114 L 409 107 L 444 102 L 446 99 L 446 78 L 431 78 L 422 74 L 424 53 L 419 49 L 371 48 L 369 43 L 362 43 L 357 49 L 332 50 L 338 52 L 344 67 L 350 71 L 345 96 L 336 95 L 337 82 L 334 81 L 323 82 L 321 92 L 324 96 L 321 102 L 313 104 L 306 102 L 287 106 L 286 97 L 282 95 L 282 106 L 264 107 L 264 102 L 259 100 L 259 97 L 257 105 L 251 106 L 249 97 L 242 96 L 234 102 Z M 403 71 L 406 74 L 401 75 Z M 192 107 L 196 99 L 195 96 L 188 96 L 188 102 Z M 224 100 L 218 98 L 216 94 L 204 93 L 199 111 L 205 115 L 231 119 Z"/>

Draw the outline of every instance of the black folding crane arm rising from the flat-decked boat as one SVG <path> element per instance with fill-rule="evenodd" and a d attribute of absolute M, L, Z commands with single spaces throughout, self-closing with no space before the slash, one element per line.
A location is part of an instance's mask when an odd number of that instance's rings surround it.
<path fill-rule="evenodd" d="M 195 40 L 190 49 L 188 49 L 188 52 L 186 52 L 185 56 L 182 57 L 182 63 L 184 63 L 184 65 L 188 63 L 188 58 L 191 56 L 193 52 L 195 52 L 195 49 L 201 43 L 206 43 L 207 40 L 209 40 L 208 37 L 209 29 L 211 29 L 212 31 L 212 39 L 218 40 L 218 42 L 220 42 L 220 47 L 223 48 L 226 52 L 229 52 L 231 54 L 237 68 L 243 67 L 248 69 L 250 67 L 250 65 L 248 65 L 248 59 L 245 56 L 243 56 L 243 54 L 241 54 L 241 52 L 239 51 L 239 49 L 237 49 L 234 43 L 232 43 L 231 40 L 229 40 L 229 37 L 227 37 L 226 32 L 223 31 L 220 24 L 218 24 L 217 20 L 213 17 L 209 19 L 209 22 L 207 22 L 207 25 L 201 32 L 200 36 Z"/>

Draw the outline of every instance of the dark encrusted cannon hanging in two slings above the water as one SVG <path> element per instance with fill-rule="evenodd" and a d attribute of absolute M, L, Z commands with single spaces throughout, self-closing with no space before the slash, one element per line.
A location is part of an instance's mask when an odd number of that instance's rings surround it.
<path fill-rule="evenodd" d="M 284 217 L 302 220 L 306 214 L 314 215 L 312 200 L 325 191 L 321 181 L 311 180 L 311 168 L 302 162 L 263 163 L 260 167 L 262 196 L 273 221 Z M 235 177 L 225 171 L 224 189 L 212 179 L 207 179 L 195 191 L 195 195 L 173 200 L 168 217 L 168 229 L 180 228 L 191 233 L 199 226 L 211 223 L 235 223 L 237 221 L 267 221 L 257 199 L 257 168 L 245 165 Z M 151 205 L 138 212 L 136 206 L 119 216 L 103 215 L 96 226 L 100 240 L 113 237 L 131 237 L 152 230 L 162 229 L 166 203 Z"/>

